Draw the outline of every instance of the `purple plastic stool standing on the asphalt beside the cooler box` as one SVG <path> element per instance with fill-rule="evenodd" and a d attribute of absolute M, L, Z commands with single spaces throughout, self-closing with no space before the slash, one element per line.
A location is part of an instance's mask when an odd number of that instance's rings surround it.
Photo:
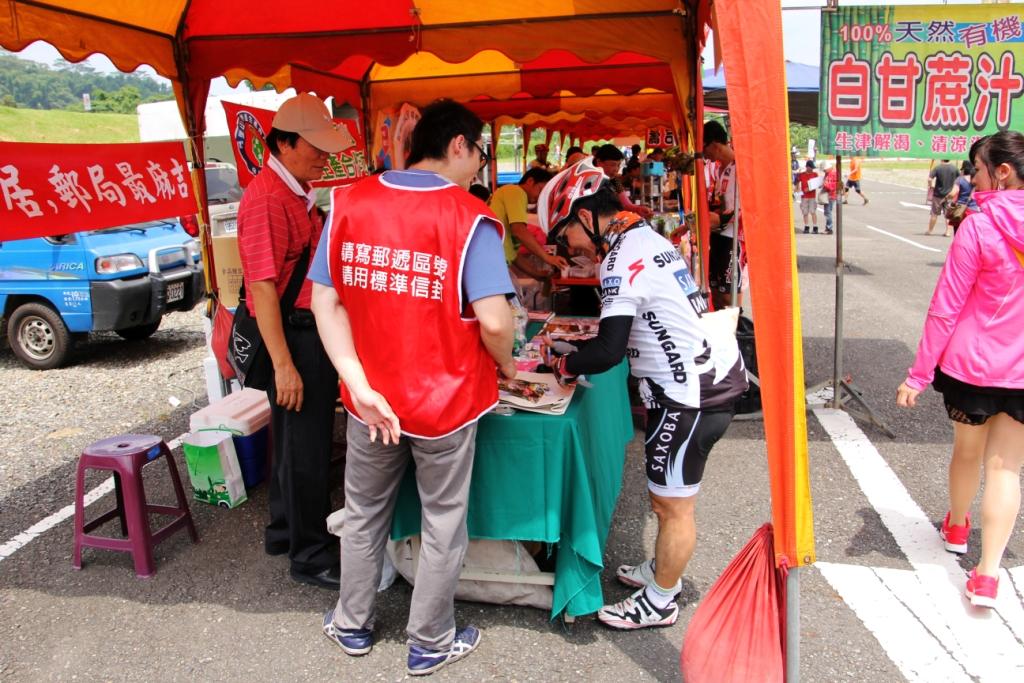
<path fill-rule="evenodd" d="M 177 496 L 177 505 L 147 505 L 145 488 L 142 485 L 142 467 L 158 458 L 167 461 Z M 117 507 L 90 522 L 85 521 L 85 471 L 109 470 L 114 473 L 114 489 Z M 174 515 L 174 518 L 159 531 L 150 530 L 150 513 Z M 114 519 L 121 520 L 121 533 L 126 539 L 111 539 L 91 536 L 88 531 Z M 188 529 L 193 543 L 199 542 L 188 501 L 177 467 L 167 444 L 159 436 L 152 434 L 122 434 L 96 441 L 82 452 L 78 459 L 78 476 L 75 482 L 75 555 L 72 565 L 82 568 L 82 547 L 120 550 L 132 554 L 135 573 L 140 579 L 148 579 L 157 572 L 153 563 L 153 548 L 168 536 L 181 528 Z"/>

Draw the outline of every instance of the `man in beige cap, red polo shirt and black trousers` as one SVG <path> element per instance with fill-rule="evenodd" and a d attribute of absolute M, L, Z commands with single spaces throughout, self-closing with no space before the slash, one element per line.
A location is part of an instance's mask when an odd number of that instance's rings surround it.
<path fill-rule="evenodd" d="M 245 301 L 273 366 L 267 388 L 273 433 L 270 523 L 264 548 L 288 554 L 292 579 L 338 589 L 331 514 L 331 458 L 338 375 L 316 334 L 308 264 L 324 223 L 309 183 L 330 154 L 350 145 L 327 105 L 303 93 L 284 104 L 266 136 L 270 154 L 239 207 Z"/>

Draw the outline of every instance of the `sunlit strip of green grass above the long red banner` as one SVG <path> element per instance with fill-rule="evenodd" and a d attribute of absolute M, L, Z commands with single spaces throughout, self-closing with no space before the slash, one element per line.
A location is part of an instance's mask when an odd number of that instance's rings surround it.
<path fill-rule="evenodd" d="M 138 117 L 0 106 L 3 142 L 138 142 Z"/>

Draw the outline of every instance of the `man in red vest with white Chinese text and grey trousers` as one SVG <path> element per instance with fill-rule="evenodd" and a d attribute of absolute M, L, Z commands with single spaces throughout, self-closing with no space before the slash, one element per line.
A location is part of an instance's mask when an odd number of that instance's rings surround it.
<path fill-rule="evenodd" d="M 482 129 L 451 100 L 426 108 L 408 170 L 334 190 L 309 272 L 317 328 L 351 418 L 341 594 L 324 633 L 350 655 L 373 647 L 384 545 L 412 458 L 423 506 L 407 628 L 412 675 L 480 642 L 476 628 L 455 624 L 476 421 L 498 401 L 498 372 L 516 372 L 504 230 L 466 191 L 487 162 Z"/>

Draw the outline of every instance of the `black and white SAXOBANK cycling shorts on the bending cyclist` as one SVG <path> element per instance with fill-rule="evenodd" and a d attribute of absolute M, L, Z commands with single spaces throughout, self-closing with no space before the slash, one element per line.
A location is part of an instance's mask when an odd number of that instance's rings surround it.
<path fill-rule="evenodd" d="M 664 498 L 696 496 L 711 449 L 732 422 L 732 408 L 647 409 L 647 488 Z"/>

